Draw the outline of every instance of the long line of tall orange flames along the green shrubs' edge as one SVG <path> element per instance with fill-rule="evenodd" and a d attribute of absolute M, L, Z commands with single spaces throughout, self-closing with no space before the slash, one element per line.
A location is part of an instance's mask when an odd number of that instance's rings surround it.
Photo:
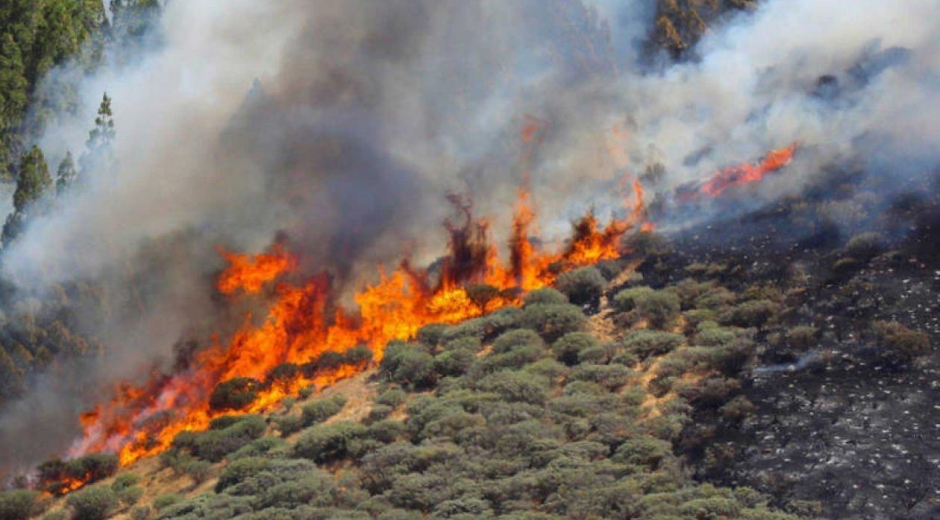
<path fill-rule="evenodd" d="M 442 271 L 415 269 L 407 259 L 391 272 L 379 270 L 377 281 L 354 296 L 356 312 L 337 310 L 327 274 L 300 284 L 284 281 L 297 261 L 280 245 L 256 256 L 220 249 L 229 266 L 218 278 L 219 292 L 243 298 L 272 287 L 262 296 L 272 299 L 264 321 L 247 316 L 228 344 L 216 340 L 173 375 L 154 373 L 144 385 L 121 385 L 111 402 L 83 415 L 84 437 L 69 454 L 107 451 L 130 464 L 166 450 L 180 432 L 207 429 L 215 417 L 268 411 L 304 387 L 322 388 L 367 368 L 368 359 L 324 362 L 331 354 L 364 346 L 380 360 L 389 341 L 412 338 L 427 324 L 458 323 L 518 304 L 525 292 L 550 285 L 560 269 L 618 258 L 628 231 L 640 224 L 649 229 L 642 187 L 636 181 L 632 187 L 626 217 L 601 227 L 589 212 L 574 224 L 563 250 L 550 253 L 532 238 L 536 212 L 524 185 L 507 263 L 489 239 L 488 223 L 474 218 L 471 204 L 452 196 L 459 218 L 446 223 L 450 241 Z M 248 378 L 257 397 L 242 409 L 213 408 L 213 390 L 235 378 Z"/>

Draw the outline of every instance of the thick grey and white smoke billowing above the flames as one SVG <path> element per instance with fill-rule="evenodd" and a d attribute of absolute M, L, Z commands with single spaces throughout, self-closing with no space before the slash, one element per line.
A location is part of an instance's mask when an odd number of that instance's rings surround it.
<path fill-rule="evenodd" d="M 525 174 L 551 238 L 592 205 L 620 208 L 622 154 L 635 174 L 664 167 L 650 188 L 667 204 L 794 141 L 754 200 L 849 160 L 903 184 L 940 159 L 936 2 L 771 0 L 712 28 L 696 59 L 658 67 L 640 51 L 648 4 L 168 3 L 159 44 L 84 80 L 76 117 L 43 137 L 52 157 L 77 153 L 113 97 L 118 167 L 33 219 L 4 275 L 23 295 L 94 281 L 119 310 L 83 320 L 100 363 L 40 379 L 6 410 L 0 444 L 23 449 L 0 467 L 60 452 L 100 389 L 237 322 L 212 296 L 216 245 L 284 236 L 305 270 L 349 285 L 403 253 L 433 258 L 448 191 L 505 221 Z M 536 143 L 520 138 L 528 115 L 546 123 Z M 76 378 L 86 394 L 63 383 Z"/>

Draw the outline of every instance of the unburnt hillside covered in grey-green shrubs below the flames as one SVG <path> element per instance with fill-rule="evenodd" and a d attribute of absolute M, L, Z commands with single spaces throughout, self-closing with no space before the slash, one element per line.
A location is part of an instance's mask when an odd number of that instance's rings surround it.
<path fill-rule="evenodd" d="M 521 309 L 425 327 L 375 370 L 263 422 L 181 435 L 162 464 L 119 473 L 145 491 L 116 518 L 791 518 L 756 491 L 696 483 L 673 450 L 693 407 L 745 418 L 721 382 L 753 332 L 690 325 L 675 292 L 643 289 L 632 270 L 602 280 L 576 271 L 560 282 L 568 296 L 540 290 Z M 244 436 L 255 420 L 267 426 Z"/>

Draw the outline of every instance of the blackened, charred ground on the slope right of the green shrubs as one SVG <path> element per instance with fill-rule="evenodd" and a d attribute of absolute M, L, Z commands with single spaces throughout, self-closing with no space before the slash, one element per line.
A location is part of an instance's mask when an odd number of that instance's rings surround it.
<path fill-rule="evenodd" d="M 684 433 L 696 477 L 750 486 L 823 518 L 940 518 L 938 205 L 907 215 L 903 234 L 888 230 L 888 243 L 861 260 L 844 260 L 848 237 L 838 227 L 798 228 L 786 211 L 775 212 L 783 218 L 712 225 L 724 238 L 714 229 L 677 237 L 671 253 L 645 268 L 656 285 L 676 282 L 666 273 L 692 262 L 729 265 L 720 281 L 736 290 L 786 289 L 801 278 L 779 329 L 820 329 L 808 351 L 758 334 L 754 362 L 740 376 L 753 413 L 727 424 L 698 410 Z M 868 334 L 875 320 L 927 333 L 930 352 L 886 358 Z"/>

